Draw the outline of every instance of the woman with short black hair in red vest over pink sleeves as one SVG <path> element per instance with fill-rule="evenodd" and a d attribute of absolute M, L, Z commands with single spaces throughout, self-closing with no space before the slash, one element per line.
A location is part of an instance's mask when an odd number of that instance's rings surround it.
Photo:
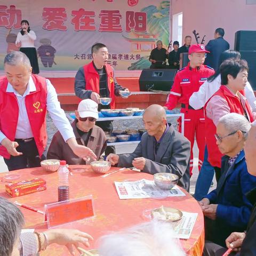
<path fill-rule="evenodd" d="M 219 119 L 228 113 L 237 113 L 253 122 L 251 106 L 244 92 L 248 65 L 245 60 L 228 59 L 220 66 L 221 86 L 205 104 L 205 137 L 208 161 L 214 167 L 217 181 L 220 178 L 221 152 L 216 145 L 214 134 Z"/>

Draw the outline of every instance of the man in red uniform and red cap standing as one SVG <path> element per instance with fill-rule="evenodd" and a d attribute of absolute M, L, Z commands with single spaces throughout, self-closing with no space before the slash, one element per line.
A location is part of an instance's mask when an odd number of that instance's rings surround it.
<path fill-rule="evenodd" d="M 190 96 L 199 90 L 199 87 L 214 74 L 214 70 L 204 66 L 205 46 L 194 44 L 189 47 L 188 66 L 178 71 L 174 78 L 174 83 L 169 94 L 165 107 L 173 109 L 177 103 L 181 103 L 181 113 L 185 114 L 184 135 L 191 143 L 190 151 L 190 175 L 193 169 L 193 146 L 196 135 L 196 142 L 199 149 L 198 168 L 201 169 L 204 160 L 205 133 L 204 133 L 204 110 L 195 110 L 189 105 Z M 181 119 L 179 119 L 180 123 Z M 179 125 L 179 129 L 181 127 Z"/>

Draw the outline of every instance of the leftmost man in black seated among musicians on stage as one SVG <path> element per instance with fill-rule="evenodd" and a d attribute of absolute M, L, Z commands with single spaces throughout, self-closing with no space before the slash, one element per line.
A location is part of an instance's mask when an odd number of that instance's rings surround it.
<path fill-rule="evenodd" d="M 163 48 L 163 42 L 158 40 L 156 48 L 150 52 L 149 61 L 150 68 L 166 68 L 166 59 L 168 59 L 169 52 Z"/>

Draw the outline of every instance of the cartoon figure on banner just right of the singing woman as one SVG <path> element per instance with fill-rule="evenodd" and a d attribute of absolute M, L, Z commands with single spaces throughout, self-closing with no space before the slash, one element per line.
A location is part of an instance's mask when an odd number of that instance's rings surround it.
<path fill-rule="evenodd" d="M 57 63 L 54 61 L 56 49 L 51 46 L 51 40 L 48 38 L 42 38 L 40 40 L 41 46 L 37 49 L 37 57 L 41 58 L 42 64 L 45 68 L 52 67 L 52 64 L 54 63 L 57 65 Z"/>

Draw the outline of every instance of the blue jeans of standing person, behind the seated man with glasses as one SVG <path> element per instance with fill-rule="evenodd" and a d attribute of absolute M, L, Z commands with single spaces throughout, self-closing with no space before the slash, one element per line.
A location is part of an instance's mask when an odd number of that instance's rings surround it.
<path fill-rule="evenodd" d="M 214 168 L 208 162 L 208 150 L 207 150 L 207 147 L 205 146 L 204 162 L 196 181 L 196 189 L 195 189 L 194 197 L 196 198 L 197 201 L 201 201 L 208 194 L 213 177 L 214 177 Z"/>

